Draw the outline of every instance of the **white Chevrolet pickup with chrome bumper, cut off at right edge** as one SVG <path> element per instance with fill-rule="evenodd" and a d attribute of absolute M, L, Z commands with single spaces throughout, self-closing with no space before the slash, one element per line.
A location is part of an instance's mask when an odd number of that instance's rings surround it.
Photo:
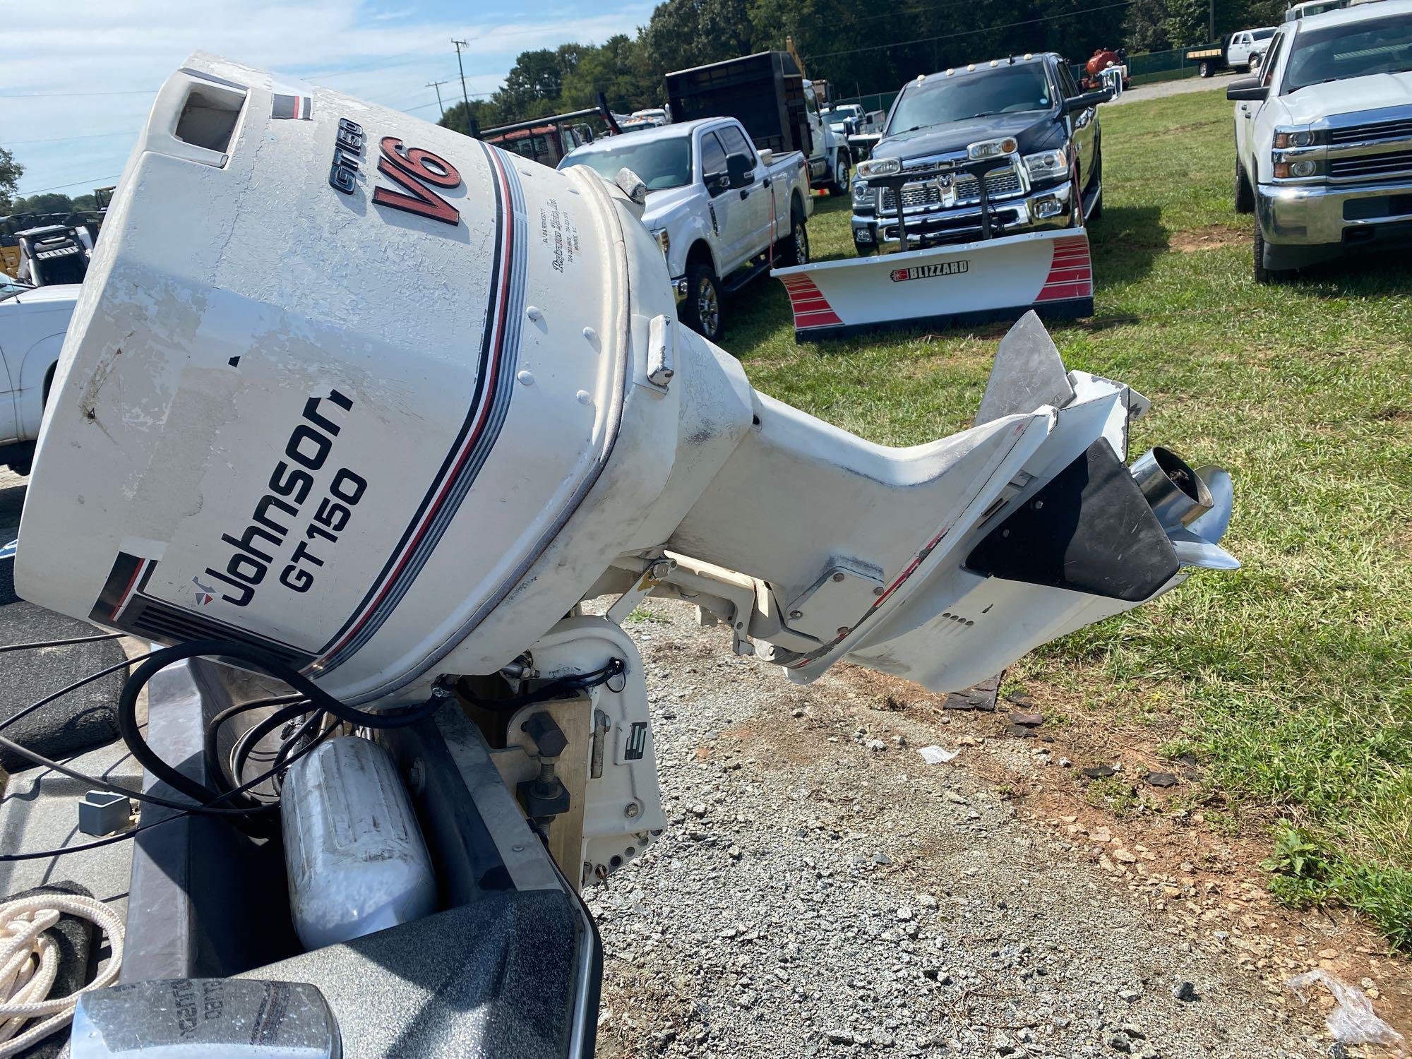
<path fill-rule="evenodd" d="M 1258 282 L 1412 244 L 1412 0 L 1285 23 L 1226 96 Z"/>

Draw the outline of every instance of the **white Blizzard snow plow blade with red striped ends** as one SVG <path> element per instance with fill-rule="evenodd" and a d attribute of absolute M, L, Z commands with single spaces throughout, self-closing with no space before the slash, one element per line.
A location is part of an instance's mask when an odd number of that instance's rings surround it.
<path fill-rule="evenodd" d="M 799 340 L 884 328 L 955 328 L 1093 315 L 1093 265 L 1083 229 L 1029 232 L 882 257 L 775 268 Z"/>

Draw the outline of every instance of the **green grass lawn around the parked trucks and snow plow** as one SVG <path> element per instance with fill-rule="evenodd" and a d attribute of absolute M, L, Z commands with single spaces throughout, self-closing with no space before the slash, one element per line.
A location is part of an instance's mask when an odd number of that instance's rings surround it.
<path fill-rule="evenodd" d="M 1281 822 L 1278 895 L 1358 908 L 1412 947 L 1412 256 L 1255 285 L 1231 106 L 1103 109 L 1096 319 L 1053 337 L 1069 367 L 1152 398 L 1134 456 L 1168 443 L 1230 469 L 1223 544 L 1244 569 L 1197 572 L 1011 676 L 1179 731 L 1166 753 L 1197 753 L 1247 826 Z M 815 258 L 851 256 L 846 205 L 816 199 Z M 970 424 L 1004 332 L 801 346 L 779 284 L 727 305 L 760 390 L 892 445 Z"/>

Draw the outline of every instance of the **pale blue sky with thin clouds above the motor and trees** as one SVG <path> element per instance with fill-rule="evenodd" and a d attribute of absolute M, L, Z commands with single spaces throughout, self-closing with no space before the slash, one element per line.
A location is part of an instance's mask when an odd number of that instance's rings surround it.
<path fill-rule="evenodd" d="M 24 164 L 20 193 L 113 184 L 157 89 L 193 51 L 281 71 L 436 120 L 426 83 L 460 99 L 496 89 L 515 55 L 599 44 L 647 23 L 651 0 L 27 0 L 0 34 L 0 147 Z"/>

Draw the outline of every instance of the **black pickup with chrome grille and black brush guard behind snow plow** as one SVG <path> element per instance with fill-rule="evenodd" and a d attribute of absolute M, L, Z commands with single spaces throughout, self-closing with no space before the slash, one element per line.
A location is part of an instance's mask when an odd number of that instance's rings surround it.
<path fill-rule="evenodd" d="M 1082 93 L 1053 52 L 1011 56 L 929 73 L 898 93 L 873 157 L 853 182 L 853 244 L 860 254 L 1048 227 L 1077 227 L 1103 210 L 1099 103 Z M 986 174 L 988 223 L 974 175 L 979 160 L 1008 165 Z M 898 233 L 895 178 L 907 246 Z M 955 172 L 949 172 L 955 169 Z"/>

